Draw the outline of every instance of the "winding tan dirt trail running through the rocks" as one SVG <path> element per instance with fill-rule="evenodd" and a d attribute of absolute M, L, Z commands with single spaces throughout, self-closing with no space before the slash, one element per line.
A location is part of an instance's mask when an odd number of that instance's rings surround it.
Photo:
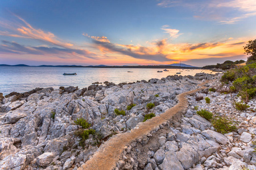
<path fill-rule="evenodd" d="M 203 86 L 205 83 L 202 83 L 199 86 Z M 92 159 L 88 160 L 84 165 L 82 165 L 79 170 L 113 169 L 116 166 L 119 156 L 121 155 L 125 146 L 130 145 L 131 142 L 135 141 L 139 137 L 147 135 L 157 126 L 170 120 L 175 114 L 185 111 L 188 107 L 188 100 L 185 96 L 203 90 L 204 88 L 206 87 L 197 88 L 196 90 L 184 92 L 183 94 L 178 95 L 178 103 L 174 107 L 168 109 L 168 111 L 165 113 L 143 122 L 138 129 L 133 129 L 130 133 L 121 133 L 115 135 L 113 138 L 110 138 L 109 141 L 106 141 L 100 146 L 98 151 L 94 153 Z"/>

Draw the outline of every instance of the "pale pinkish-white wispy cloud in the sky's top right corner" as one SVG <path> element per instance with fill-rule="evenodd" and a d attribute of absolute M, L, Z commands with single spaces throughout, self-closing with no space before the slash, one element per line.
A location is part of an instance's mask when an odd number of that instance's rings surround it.
<path fill-rule="evenodd" d="M 160 7 L 181 6 L 193 11 L 196 14 L 194 18 L 216 20 L 221 24 L 234 24 L 256 15 L 255 0 L 159 1 L 157 5 Z"/>

